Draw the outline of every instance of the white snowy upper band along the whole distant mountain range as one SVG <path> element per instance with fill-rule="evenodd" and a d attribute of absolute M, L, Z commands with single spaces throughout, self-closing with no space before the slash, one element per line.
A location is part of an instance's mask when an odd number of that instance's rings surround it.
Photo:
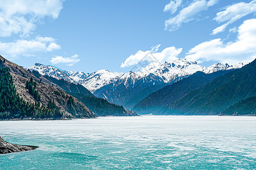
<path fill-rule="evenodd" d="M 42 75 L 52 76 L 56 79 L 64 79 L 72 83 L 80 83 L 82 86 L 94 92 L 99 88 L 106 86 L 110 83 L 115 82 L 117 79 L 127 76 L 137 76 L 138 78 L 143 78 L 148 76 L 149 74 L 154 74 L 159 78 L 162 78 L 164 83 L 168 83 L 171 80 L 185 76 L 192 75 L 196 73 L 196 71 L 203 71 L 204 73 L 213 73 L 219 70 L 229 70 L 229 69 L 238 69 L 242 66 L 246 65 L 246 63 L 238 63 L 237 65 L 228 65 L 223 63 L 216 63 L 209 67 L 200 66 L 196 61 L 188 61 L 187 59 L 176 59 L 172 62 L 166 62 L 162 65 L 151 68 L 146 71 L 141 71 L 139 73 L 134 73 L 133 75 L 128 73 L 117 73 L 111 72 L 109 70 L 98 70 L 94 73 L 85 73 L 82 71 L 65 71 L 57 69 L 53 66 L 46 66 L 40 63 L 35 63 L 34 66 L 25 67 L 27 70 L 36 70 Z M 130 71 L 131 72 L 131 71 Z M 138 79 L 137 78 L 137 79 Z M 133 78 L 134 79 L 134 78 Z"/>

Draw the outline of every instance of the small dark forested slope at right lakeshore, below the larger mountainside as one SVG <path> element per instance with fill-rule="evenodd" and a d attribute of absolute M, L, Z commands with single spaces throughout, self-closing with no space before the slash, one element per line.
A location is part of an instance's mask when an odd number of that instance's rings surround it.
<path fill-rule="evenodd" d="M 221 112 L 221 115 L 251 115 L 256 116 L 256 96 L 248 97 L 231 105 Z"/>

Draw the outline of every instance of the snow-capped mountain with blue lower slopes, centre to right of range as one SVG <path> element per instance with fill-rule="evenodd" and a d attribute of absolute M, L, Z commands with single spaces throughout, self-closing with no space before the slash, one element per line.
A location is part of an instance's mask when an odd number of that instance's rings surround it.
<path fill-rule="evenodd" d="M 128 72 L 120 76 L 114 83 L 106 84 L 94 91 L 94 95 L 103 97 L 112 103 L 133 108 L 135 104 L 147 95 L 159 90 L 167 84 L 175 83 L 197 71 L 213 73 L 219 70 L 238 69 L 243 64 L 232 66 L 218 63 L 204 67 L 195 61 L 177 59 L 138 73 Z"/>

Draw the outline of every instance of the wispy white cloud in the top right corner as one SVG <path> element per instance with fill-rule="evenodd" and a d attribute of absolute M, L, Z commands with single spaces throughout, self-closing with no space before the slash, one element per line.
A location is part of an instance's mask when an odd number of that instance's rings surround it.
<path fill-rule="evenodd" d="M 256 12 L 256 1 L 251 1 L 250 3 L 240 2 L 226 7 L 224 11 L 218 12 L 214 18 L 218 23 L 226 23 L 213 29 L 212 35 L 225 31 L 229 24 L 232 24 L 244 16 L 254 12 Z"/>

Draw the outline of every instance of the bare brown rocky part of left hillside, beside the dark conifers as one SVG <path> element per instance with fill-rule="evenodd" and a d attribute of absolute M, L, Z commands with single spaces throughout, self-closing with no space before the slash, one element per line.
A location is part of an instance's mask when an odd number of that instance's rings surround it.
<path fill-rule="evenodd" d="M 60 90 L 61 87 L 58 87 L 57 84 L 49 82 L 43 76 L 36 77 L 23 69 L 22 67 L 16 65 L 13 62 L 7 61 L 5 58 L 0 56 L 0 59 L 3 62 L 4 67 L 10 69 L 10 74 L 13 76 L 13 83 L 16 88 L 17 94 L 24 101 L 29 104 L 35 104 L 36 100 L 26 89 L 26 82 L 29 79 L 33 79 L 36 83 L 35 90 L 40 94 L 40 106 L 44 105 L 47 107 L 49 100 L 54 100 L 56 107 L 59 107 L 62 114 L 62 118 L 94 118 L 94 114 L 90 109 L 88 109 L 81 101 L 73 98 L 71 95 L 68 95 L 64 91 Z M 68 103 L 68 100 L 72 98 L 72 103 Z"/>

